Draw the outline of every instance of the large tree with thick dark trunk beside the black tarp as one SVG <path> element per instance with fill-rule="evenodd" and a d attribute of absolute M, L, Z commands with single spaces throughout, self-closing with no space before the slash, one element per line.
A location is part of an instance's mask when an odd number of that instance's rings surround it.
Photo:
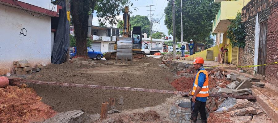
<path fill-rule="evenodd" d="M 117 17 L 124 10 L 124 6 L 133 6 L 130 0 L 70 0 L 70 2 L 77 55 L 84 57 L 88 57 L 88 14 L 90 12 L 96 14 L 100 26 L 105 26 L 105 22 L 116 25 L 119 21 Z M 94 13 L 94 10 L 97 12 Z"/>

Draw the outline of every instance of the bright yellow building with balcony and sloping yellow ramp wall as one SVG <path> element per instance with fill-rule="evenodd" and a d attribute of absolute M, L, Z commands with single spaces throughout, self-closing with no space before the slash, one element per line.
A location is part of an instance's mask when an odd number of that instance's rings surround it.
<path fill-rule="evenodd" d="M 251 0 L 214 0 L 214 2 L 221 2 L 221 7 L 218 13 L 215 15 L 215 20 L 213 21 L 213 33 L 217 34 L 217 41 L 219 41 L 219 35 L 223 34 L 223 42 L 219 47 L 223 49 L 228 49 L 228 52 L 225 53 L 224 61 L 238 64 L 238 48 L 232 48 L 230 40 L 227 38 L 227 30 L 230 25 L 229 20 L 236 18 L 237 13 L 241 12 L 242 8 L 246 6 Z M 186 58 L 186 60 L 192 60 L 196 57 L 205 58 L 206 61 L 213 61 L 215 57 L 218 56 L 218 43 L 217 46 L 204 50 L 192 56 Z M 212 53 L 211 53 L 212 52 Z M 212 58 L 213 57 L 213 58 Z"/>

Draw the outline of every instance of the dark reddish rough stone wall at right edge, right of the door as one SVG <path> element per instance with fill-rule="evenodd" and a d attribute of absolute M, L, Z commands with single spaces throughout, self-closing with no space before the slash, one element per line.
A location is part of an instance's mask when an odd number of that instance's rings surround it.
<path fill-rule="evenodd" d="M 278 2 L 271 7 L 267 32 L 267 63 L 278 62 Z M 266 67 L 266 80 L 278 85 L 278 64 Z"/>

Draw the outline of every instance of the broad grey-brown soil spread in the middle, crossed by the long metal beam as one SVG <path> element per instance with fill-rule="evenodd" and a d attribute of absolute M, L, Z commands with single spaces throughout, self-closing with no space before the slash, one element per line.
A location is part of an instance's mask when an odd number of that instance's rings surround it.
<path fill-rule="evenodd" d="M 108 63 L 111 61 L 92 60 L 92 63 Z M 82 62 L 83 63 L 83 62 Z M 86 85 L 104 85 L 117 87 L 134 87 L 147 89 L 175 90 L 170 81 L 175 77 L 169 71 L 162 69 L 155 58 L 142 58 L 134 60 L 132 65 L 114 65 L 111 67 L 135 67 L 136 73 L 128 71 L 118 73 L 90 73 L 95 67 L 107 65 L 94 65 L 94 68 L 84 68 L 81 63 L 63 63 L 61 65 L 48 65 L 40 72 L 32 74 L 30 79 L 39 81 L 56 81 L 60 83 L 74 83 Z M 76 67 L 78 66 L 78 67 Z M 86 66 L 86 65 L 85 65 Z M 105 68 L 104 67 L 104 68 Z M 163 72 L 162 72 L 163 71 Z M 100 113 L 101 103 L 109 98 L 116 99 L 116 109 L 137 109 L 161 104 L 173 94 L 122 91 L 109 89 L 92 89 L 80 87 L 65 87 L 54 85 L 29 84 L 42 97 L 42 101 L 57 112 L 83 109 L 86 113 Z M 119 98 L 124 97 L 124 105 L 119 105 Z M 158 98 L 159 97 L 159 98 Z"/>

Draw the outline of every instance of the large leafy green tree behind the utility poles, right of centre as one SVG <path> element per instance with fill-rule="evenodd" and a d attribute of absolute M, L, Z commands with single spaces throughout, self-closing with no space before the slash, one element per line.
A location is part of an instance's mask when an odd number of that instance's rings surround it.
<path fill-rule="evenodd" d="M 175 1 L 175 17 L 176 17 L 176 39 L 180 41 L 180 0 Z M 193 39 L 196 42 L 206 42 L 212 31 L 213 19 L 220 8 L 219 3 L 214 3 L 214 0 L 183 0 L 183 41 L 189 42 Z M 172 32 L 172 4 L 168 3 L 164 10 L 165 20 L 164 23 Z"/>

